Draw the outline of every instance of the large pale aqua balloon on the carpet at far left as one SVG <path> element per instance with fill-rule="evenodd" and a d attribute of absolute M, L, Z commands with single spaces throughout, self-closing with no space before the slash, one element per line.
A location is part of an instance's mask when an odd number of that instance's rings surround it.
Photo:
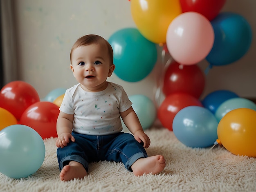
<path fill-rule="evenodd" d="M 0 131 L 0 172 L 11 178 L 35 173 L 45 159 L 45 144 L 31 127 L 11 125 Z"/>

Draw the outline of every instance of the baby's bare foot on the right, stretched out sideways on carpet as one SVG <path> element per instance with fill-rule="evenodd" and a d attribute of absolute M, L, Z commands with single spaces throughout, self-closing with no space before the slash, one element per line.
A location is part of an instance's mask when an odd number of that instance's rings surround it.
<path fill-rule="evenodd" d="M 141 176 L 144 173 L 157 174 L 164 170 L 165 159 L 162 155 L 155 155 L 146 158 L 140 158 L 135 161 L 131 168 L 135 176 Z"/>

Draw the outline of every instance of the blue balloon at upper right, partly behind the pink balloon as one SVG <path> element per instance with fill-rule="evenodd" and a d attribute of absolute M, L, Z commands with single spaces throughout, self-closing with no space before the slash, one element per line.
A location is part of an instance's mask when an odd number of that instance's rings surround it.
<path fill-rule="evenodd" d="M 206 57 L 211 65 L 228 65 L 245 55 L 252 42 L 252 29 L 245 18 L 237 13 L 220 13 L 211 24 L 215 40 Z"/>

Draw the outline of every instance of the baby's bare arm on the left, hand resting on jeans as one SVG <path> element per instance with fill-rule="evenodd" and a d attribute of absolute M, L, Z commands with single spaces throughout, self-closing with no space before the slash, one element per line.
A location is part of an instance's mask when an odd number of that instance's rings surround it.
<path fill-rule="evenodd" d="M 71 141 L 75 141 L 75 138 L 72 136 L 73 129 L 73 120 L 74 115 L 65 114 L 60 112 L 57 119 L 57 134 L 58 138 L 56 140 L 57 147 L 65 147 L 67 143 Z"/>

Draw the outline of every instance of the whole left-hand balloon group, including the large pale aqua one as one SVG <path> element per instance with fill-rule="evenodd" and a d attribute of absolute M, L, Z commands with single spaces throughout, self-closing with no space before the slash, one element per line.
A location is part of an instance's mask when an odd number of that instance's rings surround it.
<path fill-rule="evenodd" d="M 65 89 L 40 101 L 36 89 L 13 81 L 0 90 L 0 172 L 11 178 L 36 172 L 45 159 L 43 139 L 57 137 L 56 122 Z M 18 161 L 17 161 L 18 159 Z"/>

